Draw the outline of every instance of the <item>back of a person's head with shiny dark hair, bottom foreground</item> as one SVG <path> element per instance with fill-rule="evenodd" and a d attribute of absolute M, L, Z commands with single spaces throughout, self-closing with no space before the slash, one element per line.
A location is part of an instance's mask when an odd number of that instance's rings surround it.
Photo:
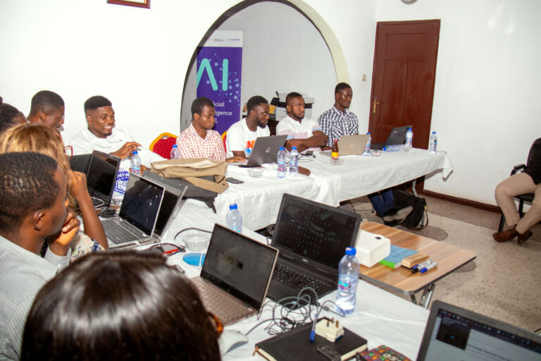
<path fill-rule="evenodd" d="M 161 255 L 94 253 L 39 291 L 21 360 L 220 360 L 216 329 Z"/>

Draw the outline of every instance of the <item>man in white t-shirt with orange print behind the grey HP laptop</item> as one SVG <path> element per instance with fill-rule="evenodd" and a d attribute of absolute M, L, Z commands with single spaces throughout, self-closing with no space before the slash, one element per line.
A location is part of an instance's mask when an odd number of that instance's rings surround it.
<path fill-rule="evenodd" d="M 254 149 L 254 143 L 258 137 L 268 137 L 268 102 L 267 99 L 256 95 L 248 100 L 248 115 L 241 121 L 237 121 L 228 129 L 225 137 L 227 157 L 244 157 L 244 149 Z"/>

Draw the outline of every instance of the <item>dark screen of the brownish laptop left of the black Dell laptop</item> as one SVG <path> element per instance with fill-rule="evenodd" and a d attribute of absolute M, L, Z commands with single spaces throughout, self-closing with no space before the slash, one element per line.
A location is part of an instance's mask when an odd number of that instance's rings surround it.
<path fill-rule="evenodd" d="M 216 224 L 201 278 L 259 310 L 278 250 Z"/>

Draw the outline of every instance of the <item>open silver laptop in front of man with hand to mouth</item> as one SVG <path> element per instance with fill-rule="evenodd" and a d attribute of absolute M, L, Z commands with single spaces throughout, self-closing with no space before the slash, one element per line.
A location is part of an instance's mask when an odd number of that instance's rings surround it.
<path fill-rule="evenodd" d="M 149 241 L 164 193 L 162 185 L 130 174 L 118 217 L 101 221 L 109 247 L 140 245 Z"/>

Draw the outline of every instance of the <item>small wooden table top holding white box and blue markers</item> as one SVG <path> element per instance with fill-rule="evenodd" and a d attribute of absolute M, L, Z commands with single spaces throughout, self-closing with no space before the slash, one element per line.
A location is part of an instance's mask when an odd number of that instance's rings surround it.
<path fill-rule="evenodd" d="M 477 255 L 471 250 L 459 248 L 449 243 L 438 242 L 430 238 L 416 235 L 397 228 L 391 228 L 374 222 L 361 224 L 361 229 L 367 232 L 383 235 L 391 240 L 392 245 L 418 250 L 430 259 L 437 261 L 437 267 L 421 274 L 412 274 L 410 269 L 398 267 L 391 269 L 383 264 L 375 264 L 372 267 L 361 265 L 359 276 L 361 279 L 371 281 L 383 288 L 390 288 L 405 295 L 412 295 L 442 279 L 447 274 L 455 271 L 464 264 L 471 262 Z"/>

